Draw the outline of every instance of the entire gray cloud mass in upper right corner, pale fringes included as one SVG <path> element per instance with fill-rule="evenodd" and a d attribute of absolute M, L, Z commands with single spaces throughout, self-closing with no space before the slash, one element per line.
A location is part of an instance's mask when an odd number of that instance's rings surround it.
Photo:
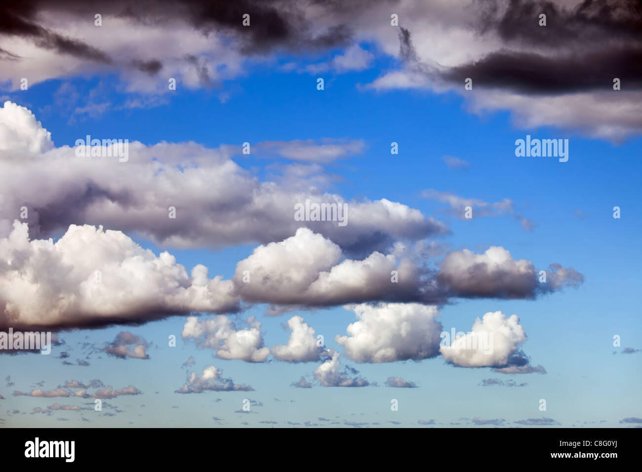
<path fill-rule="evenodd" d="M 404 68 L 370 87 L 463 94 L 464 79 L 472 78 L 473 90 L 484 93 L 465 92 L 471 112 L 510 110 L 520 128 L 554 125 L 615 142 L 638 135 L 642 114 L 627 105 L 642 96 L 642 40 L 634 33 L 642 27 L 638 1 L 571 3 L 574 8 L 539 0 L 478 0 L 473 7 L 453 3 L 446 10 L 410 3 L 417 18 L 433 13 L 435 27 L 406 21 L 412 26 L 399 28 Z M 547 26 L 539 26 L 540 13 L 546 13 Z M 446 51 L 436 40 L 449 35 L 469 37 L 474 46 L 466 54 Z M 613 94 L 616 77 L 627 87 Z M 600 114 L 604 103 L 612 113 Z"/>

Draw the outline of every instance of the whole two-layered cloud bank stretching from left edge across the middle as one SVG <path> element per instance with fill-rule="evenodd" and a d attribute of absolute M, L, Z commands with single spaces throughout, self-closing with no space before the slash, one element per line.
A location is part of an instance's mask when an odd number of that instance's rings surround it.
<path fill-rule="evenodd" d="M 118 162 L 55 148 L 35 116 L 10 102 L 0 109 L 0 123 L 10 130 L 0 140 L 0 183 L 10 200 L 0 209 L 0 306 L 12 307 L 0 311 L 0 328 L 9 320 L 14 327 L 58 329 L 139 324 L 191 311 L 236 313 L 252 303 L 286 311 L 362 302 L 440 305 L 453 297 L 529 299 L 584 280 L 573 268 L 551 264 L 546 283 L 539 283 L 530 261 L 514 260 L 502 247 L 450 252 L 435 270 L 401 241 L 440 236 L 446 227 L 386 199 L 348 202 L 345 227 L 296 221 L 293 204 L 311 197 L 299 189 L 305 179 L 290 190 L 259 182 L 230 159 L 229 148 L 132 143 L 129 161 Z M 343 203 L 338 195 L 317 197 Z M 12 223 L 23 203 L 26 222 Z M 169 205 L 177 219 L 168 218 Z M 77 220 L 119 231 L 65 226 Z M 60 230 L 55 243 L 35 239 Z M 121 231 L 178 247 L 269 243 L 239 261 L 232 279 L 210 279 L 206 267 L 188 274 L 168 252 L 156 256 Z M 33 277 L 24 280 L 26 272 Z M 261 342 L 257 338 L 254 350 L 265 353 Z M 147 356 L 144 340 L 117 339 L 107 352 Z"/>

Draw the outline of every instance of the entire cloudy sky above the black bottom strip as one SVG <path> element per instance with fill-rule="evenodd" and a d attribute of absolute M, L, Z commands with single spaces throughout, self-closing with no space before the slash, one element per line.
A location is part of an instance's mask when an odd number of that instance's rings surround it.
<path fill-rule="evenodd" d="M 0 426 L 642 425 L 639 2 L 0 8 Z"/>

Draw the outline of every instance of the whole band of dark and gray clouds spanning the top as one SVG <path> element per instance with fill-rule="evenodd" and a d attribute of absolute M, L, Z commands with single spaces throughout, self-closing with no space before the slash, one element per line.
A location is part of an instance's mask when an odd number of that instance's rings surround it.
<path fill-rule="evenodd" d="M 635 106 L 642 92 L 642 10 L 637 0 L 119 0 L 107 5 L 98 0 L 26 0 L 1 8 L 0 35 L 20 39 L 31 49 L 24 44 L 15 51 L 0 49 L 0 60 L 8 64 L 6 69 L 24 67 L 13 76 L 28 71 L 36 81 L 56 78 L 60 71 L 124 70 L 125 80 L 136 87 L 153 88 L 132 74 L 146 77 L 162 69 L 187 87 L 210 87 L 247 70 L 244 61 L 276 53 L 303 57 L 342 48 L 345 52 L 331 62 L 311 64 L 319 71 L 340 72 L 369 67 L 372 50 L 404 61 L 401 69 L 377 79 L 375 88 L 463 91 L 464 78 L 471 77 L 475 89 L 485 91 L 485 97 L 471 94 L 471 111 L 508 109 L 521 127 L 556 125 L 607 139 L 623 139 L 642 129 Z M 92 18 L 97 11 L 103 14 L 101 28 L 110 33 L 108 40 L 96 34 Z M 392 11 L 399 14 L 399 28 L 390 26 Z M 243 26 L 244 13 L 250 14 L 249 27 Z M 547 15 L 545 27 L 538 24 L 539 13 Z M 123 31 L 129 28 L 141 31 L 139 39 L 125 39 Z M 67 37 L 65 30 L 75 36 Z M 150 47 L 161 31 L 171 39 Z M 372 46 L 369 51 L 360 48 L 363 42 Z M 40 58 L 43 50 L 50 53 L 49 60 L 35 64 L 30 58 Z M 116 64 L 117 55 L 126 56 L 122 64 Z M 67 56 L 73 61 L 64 62 Z M 616 76 L 623 89 L 613 94 Z M 611 110 L 600 113 L 604 103 Z"/>

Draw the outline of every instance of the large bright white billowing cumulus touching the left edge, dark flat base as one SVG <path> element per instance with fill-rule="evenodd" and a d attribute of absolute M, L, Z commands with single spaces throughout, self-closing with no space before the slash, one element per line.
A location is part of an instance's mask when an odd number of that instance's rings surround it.
<path fill-rule="evenodd" d="M 193 310 L 236 310 L 232 283 L 191 273 L 120 231 L 71 225 L 56 241 L 30 240 L 16 220 L 0 238 L 0 326 L 91 326 Z M 142 354 L 142 353 L 139 353 Z"/>

